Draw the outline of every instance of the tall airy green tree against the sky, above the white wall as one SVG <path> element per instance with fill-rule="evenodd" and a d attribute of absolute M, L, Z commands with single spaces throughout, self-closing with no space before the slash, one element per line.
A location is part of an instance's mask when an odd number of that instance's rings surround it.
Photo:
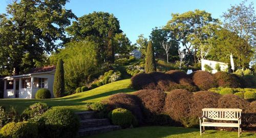
<path fill-rule="evenodd" d="M 172 19 L 164 27 L 172 31 L 176 39 L 183 45 L 191 55 L 194 53 L 194 62 L 198 62 L 198 49 L 209 45 L 209 37 L 212 37 L 212 30 L 219 24 L 218 19 L 211 17 L 211 14 L 201 10 L 188 11 L 182 14 L 172 14 Z M 194 50 L 194 52 L 193 52 Z M 199 51 L 201 52 L 201 51 Z M 201 55 L 201 54 L 199 54 Z"/>

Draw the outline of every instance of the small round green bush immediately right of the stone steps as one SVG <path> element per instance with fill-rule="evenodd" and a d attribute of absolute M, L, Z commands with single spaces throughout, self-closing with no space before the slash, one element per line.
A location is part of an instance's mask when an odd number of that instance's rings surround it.
<path fill-rule="evenodd" d="M 111 111 L 110 118 L 114 125 L 119 125 L 122 128 L 130 127 L 135 119 L 131 111 L 123 108 L 117 108 Z"/>

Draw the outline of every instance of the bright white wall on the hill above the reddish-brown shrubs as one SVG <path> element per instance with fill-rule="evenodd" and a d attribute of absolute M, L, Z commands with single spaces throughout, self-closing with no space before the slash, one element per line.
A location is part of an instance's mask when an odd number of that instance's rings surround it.
<path fill-rule="evenodd" d="M 216 64 L 219 63 L 221 66 L 221 71 L 225 71 L 226 68 L 228 67 L 227 63 L 224 62 L 217 62 L 217 61 L 211 61 L 211 60 L 201 60 L 201 66 L 202 66 L 202 71 L 205 71 L 204 65 L 207 64 L 212 68 L 212 73 L 217 73 L 218 71 L 215 70 Z"/>

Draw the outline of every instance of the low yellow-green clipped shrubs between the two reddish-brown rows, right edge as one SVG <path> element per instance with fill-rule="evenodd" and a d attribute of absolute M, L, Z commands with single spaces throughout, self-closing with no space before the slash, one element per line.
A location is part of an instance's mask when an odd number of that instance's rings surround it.
<path fill-rule="evenodd" d="M 211 88 L 209 91 L 213 91 L 215 93 L 226 95 L 226 94 L 234 94 L 240 98 L 246 100 L 256 100 L 256 88 Z"/>

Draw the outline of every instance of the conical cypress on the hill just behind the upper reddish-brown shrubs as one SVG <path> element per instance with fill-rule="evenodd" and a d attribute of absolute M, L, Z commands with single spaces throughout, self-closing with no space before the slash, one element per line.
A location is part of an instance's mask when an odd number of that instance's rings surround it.
<path fill-rule="evenodd" d="M 156 71 L 155 52 L 152 41 L 147 44 L 146 59 L 145 59 L 145 73 L 151 73 Z"/>

